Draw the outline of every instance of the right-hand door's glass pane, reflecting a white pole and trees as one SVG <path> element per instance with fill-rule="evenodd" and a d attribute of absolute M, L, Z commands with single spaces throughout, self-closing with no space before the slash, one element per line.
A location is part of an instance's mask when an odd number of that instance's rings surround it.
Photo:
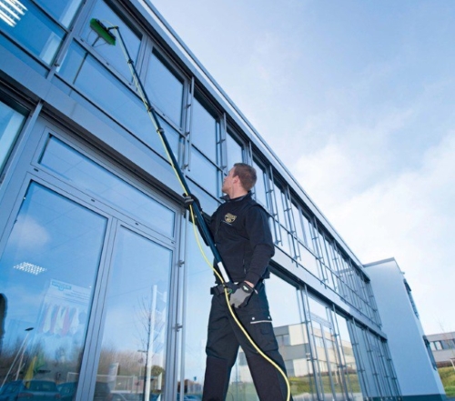
<path fill-rule="evenodd" d="M 169 249 L 126 228 L 118 231 L 94 400 L 134 394 L 148 401 L 164 392 L 171 264 Z"/>

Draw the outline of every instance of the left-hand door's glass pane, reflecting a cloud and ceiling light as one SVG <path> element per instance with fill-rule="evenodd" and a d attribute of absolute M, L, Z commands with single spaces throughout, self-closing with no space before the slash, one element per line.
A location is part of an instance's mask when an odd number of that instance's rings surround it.
<path fill-rule="evenodd" d="M 106 218 L 32 183 L 0 259 L 0 385 L 76 389 Z"/>

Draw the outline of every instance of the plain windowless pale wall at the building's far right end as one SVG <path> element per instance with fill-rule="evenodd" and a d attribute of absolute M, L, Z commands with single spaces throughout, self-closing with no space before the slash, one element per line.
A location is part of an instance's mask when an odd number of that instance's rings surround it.
<path fill-rule="evenodd" d="M 388 335 L 402 396 L 440 399 L 445 394 L 440 376 L 436 366 L 432 366 L 410 287 L 397 262 L 388 259 L 365 267 Z"/>

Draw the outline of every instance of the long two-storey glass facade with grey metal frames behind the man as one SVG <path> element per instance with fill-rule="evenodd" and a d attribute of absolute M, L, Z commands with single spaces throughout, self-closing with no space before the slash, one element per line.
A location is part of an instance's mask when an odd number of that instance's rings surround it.
<path fill-rule="evenodd" d="M 219 205 L 234 163 L 256 168 L 254 196 L 278 255 L 266 285 L 270 311 L 294 399 L 398 400 L 359 262 L 258 139 L 136 18 L 135 5 L 21 3 L 15 25 L 0 20 L 0 45 L 33 60 L 27 68 L 58 88 L 66 108 L 18 107 L 20 96 L 0 87 L 9 99 L 0 103 L 0 385 L 50 382 L 75 401 L 201 397 L 210 252 L 169 182 L 167 153 L 116 29 L 116 45 L 107 45 L 90 28 L 96 18 L 119 27 L 205 212 Z M 241 352 L 228 391 L 258 399 Z"/>

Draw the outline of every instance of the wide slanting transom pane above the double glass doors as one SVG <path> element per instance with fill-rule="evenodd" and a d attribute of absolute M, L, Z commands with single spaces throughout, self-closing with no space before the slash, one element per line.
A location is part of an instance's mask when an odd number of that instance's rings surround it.
<path fill-rule="evenodd" d="M 40 164 L 103 199 L 108 205 L 125 211 L 127 215 L 135 216 L 138 221 L 146 222 L 147 226 L 157 229 L 166 236 L 174 235 L 173 210 L 127 184 L 55 137 L 51 137 L 45 146 Z"/>

